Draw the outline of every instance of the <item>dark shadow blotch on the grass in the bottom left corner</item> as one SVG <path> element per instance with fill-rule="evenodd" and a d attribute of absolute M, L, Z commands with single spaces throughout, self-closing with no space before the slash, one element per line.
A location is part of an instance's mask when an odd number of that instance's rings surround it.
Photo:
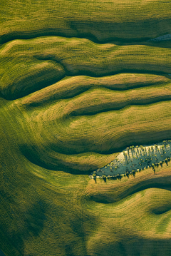
<path fill-rule="evenodd" d="M 4 193 L 4 197 L 6 198 L 6 203 L 12 205 L 12 198 L 10 198 L 6 193 Z M 14 222 L 13 217 L 11 217 L 11 222 L 0 222 L 0 229 L 1 233 L 8 237 L 11 255 L 16 255 L 16 251 L 19 252 L 19 255 L 24 255 L 24 241 L 29 239 L 29 237 L 38 237 L 40 232 L 43 230 L 43 222 L 46 220 L 45 211 L 46 205 L 41 200 L 33 203 L 33 205 L 31 205 L 27 210 L 18 209 L 14 213 L 14 210 L 9 208 L 8 214 L 11 216 L 14 215 L 14 219 L 17 221 Z M 19 212 L 19 215 L 22 215 L 21 222 L 19 220 L 19 216 L 16 217 L 18 215 L 17 212 Z M 5 235 L 6 232 L 8 235 Z M 3 237 L 0 239 L 3 239 Z"/>

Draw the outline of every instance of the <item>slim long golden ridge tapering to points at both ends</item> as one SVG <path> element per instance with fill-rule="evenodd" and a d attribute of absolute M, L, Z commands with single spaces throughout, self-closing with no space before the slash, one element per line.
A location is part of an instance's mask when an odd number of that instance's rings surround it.
<path fill-rule="evenodd" d="M 123 91 L 143 86 L 164 86 L 166 83 L 170 83 L 170 78 L 147 73 L 119 73 L 115 76 L 100 78 L 73 76 L 48 86 L 41 91 L 36 91 L 36 93 L 22 99 L 21 103 L 26 108 L 29 108 L 52 103 L 63 98 L 71 98 L 90 88 L 108 88 Z"/>

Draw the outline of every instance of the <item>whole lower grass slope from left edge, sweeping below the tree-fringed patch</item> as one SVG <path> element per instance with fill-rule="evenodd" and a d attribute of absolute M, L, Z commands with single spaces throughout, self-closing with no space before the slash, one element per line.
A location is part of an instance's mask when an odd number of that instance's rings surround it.
<path fill-rule="evenodd" d="M 46 170 L 19 150 L 17 111 L 1 100 L 0 247 L 14 255 L 169 255 L 170 163 L 135 178 Z M 19 113 L 18 113 L 19 115 Z M 9 126 L 9 123 L 13 126 Z"/>

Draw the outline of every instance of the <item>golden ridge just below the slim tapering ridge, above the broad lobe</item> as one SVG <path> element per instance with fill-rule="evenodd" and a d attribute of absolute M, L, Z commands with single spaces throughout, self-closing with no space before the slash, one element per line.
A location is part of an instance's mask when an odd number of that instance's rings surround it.
<path fill-rule="evenodd" d="M 64 101 L 63 116 L 84 116 L 118 110 L 130 105 L 145 105 L 159 101 L 170 101 L 171 83 L 165 86 L 148 86 L 127 91 L 111 91 L 106 88 L 93 88 L 81 95 Z M 63 101 L 56 103 L 62 108 Z M 61 115 L 60 115 L 61 116 Z"/>

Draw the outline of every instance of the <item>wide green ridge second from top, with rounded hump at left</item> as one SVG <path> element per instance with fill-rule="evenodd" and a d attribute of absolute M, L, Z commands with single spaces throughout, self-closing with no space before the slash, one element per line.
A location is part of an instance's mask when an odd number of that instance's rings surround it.
<path fill-rule="evenodd" d="M 121 71 L 170 74 L 170 56 L 170 48 L 101 46 L 57 36 L 11 41 L 0 51 L 1 93 L 9 100 L 20 98 L 63 76 L 107 76 Z"/>

